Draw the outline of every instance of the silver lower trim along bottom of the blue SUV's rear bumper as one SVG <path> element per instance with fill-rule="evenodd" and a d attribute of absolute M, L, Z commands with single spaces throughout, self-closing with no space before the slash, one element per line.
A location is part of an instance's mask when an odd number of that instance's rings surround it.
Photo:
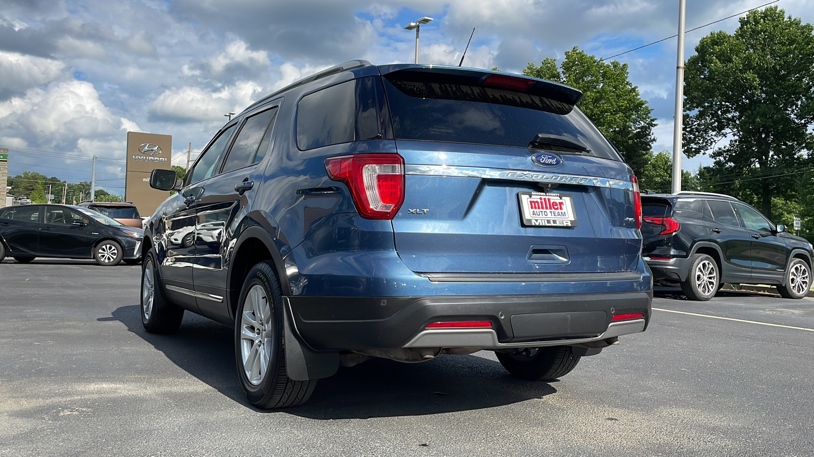
<path fill-rule="evenodd" d="M 405 347 L 480 347 L 483 349 L 505 349 L 510 347 L 545 347 L 597 342 L 612 337 L 639 333 L 645 329 L 645 320 L 625 320 L 611 322 L 608 329 L 598 337 L 575 338 L 571 340 L 548 340 L 541 342 L 497 341 L 497 333 L 492 329 L 427 329 L 418 333 Z"/>

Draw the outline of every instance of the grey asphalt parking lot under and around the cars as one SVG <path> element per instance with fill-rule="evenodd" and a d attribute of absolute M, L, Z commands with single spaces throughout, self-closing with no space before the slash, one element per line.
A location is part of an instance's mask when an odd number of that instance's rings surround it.
<path fill-rule="evenodd" d="M 0 263 L 0 455 L 814 455 L 814 299 L 654 300 L 561 381 L 491 353 L 365 362 L 258 411 L 232 331 L 144 332 L 140 266 Z M 725 319 L 721 319 L 725 318 Z"/>

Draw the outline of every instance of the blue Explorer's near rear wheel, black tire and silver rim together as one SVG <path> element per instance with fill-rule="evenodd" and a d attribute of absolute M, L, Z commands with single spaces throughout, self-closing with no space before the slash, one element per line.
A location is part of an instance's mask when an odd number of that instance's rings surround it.
<path fill-rule="evenodd" d="M 234 318 L 238 377 L 246 398 L 256 407 L 295 407 L 308 400 L 317 386 L 317 381 L 294 381 L 288 377 L 283 346 L 284 319 L 282 292 L 274 266 L 257 263 L 243 282 Z"/>

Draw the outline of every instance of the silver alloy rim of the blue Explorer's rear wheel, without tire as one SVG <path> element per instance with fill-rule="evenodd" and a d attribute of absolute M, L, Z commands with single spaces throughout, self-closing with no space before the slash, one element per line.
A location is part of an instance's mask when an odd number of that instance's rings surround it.
<path fill-rule="evenodd" d="M 263 286 L 252 285 L 243 302 L 240 320 L 240 354 L 243 373 L 252 385 L 260 385 L 269 371 L 269 360 L 274 346 L 274 322 L 269 297 Z"/>

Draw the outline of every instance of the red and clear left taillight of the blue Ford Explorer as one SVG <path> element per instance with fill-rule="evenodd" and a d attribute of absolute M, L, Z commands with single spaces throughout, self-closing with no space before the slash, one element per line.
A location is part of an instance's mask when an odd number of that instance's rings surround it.
<path fill-rule="evenodd" d="M 328 176 L 348 185 L 365 219 L 392 219 L 405 200 L 405 159 L 397 154 L 357 154 L 325 160 Z"/>

